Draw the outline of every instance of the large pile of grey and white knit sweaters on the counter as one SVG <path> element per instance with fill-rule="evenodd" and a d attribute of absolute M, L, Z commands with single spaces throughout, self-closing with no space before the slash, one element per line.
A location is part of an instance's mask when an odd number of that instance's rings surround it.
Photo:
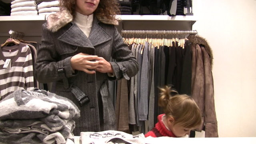
<path fill-rule="evenodd" d="M 74 144 L 78 107 L 69 99 L 35 88 L 16 90 L 0 101 L 0 142 Z"/>

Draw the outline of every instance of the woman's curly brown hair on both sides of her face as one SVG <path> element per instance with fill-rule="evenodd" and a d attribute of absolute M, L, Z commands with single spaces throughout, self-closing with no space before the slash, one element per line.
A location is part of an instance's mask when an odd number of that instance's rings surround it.
<path fill-rule="evenodd" d="M 60 7 L 66 8 L 72 16 L 76 16 L 76 0 L 60 0 Z M 104 19 L 115 20 L 115 15 L 120 14 L 117 0 L 100 0 L 94 14 Z"/>

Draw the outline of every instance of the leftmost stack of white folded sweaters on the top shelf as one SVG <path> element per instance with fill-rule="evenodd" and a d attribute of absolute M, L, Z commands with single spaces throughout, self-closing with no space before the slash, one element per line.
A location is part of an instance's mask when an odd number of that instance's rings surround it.
<path fill-rule="evenodd" d="M 38 15 L 37 5 L 41 0 L 14 0 L 11 2 L 11 16 Z"/>

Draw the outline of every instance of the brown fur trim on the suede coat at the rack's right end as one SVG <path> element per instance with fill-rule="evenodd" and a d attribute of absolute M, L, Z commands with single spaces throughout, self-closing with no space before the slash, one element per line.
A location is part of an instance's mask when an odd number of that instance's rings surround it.
<path fill-rule="evenodd" d="M 207 40 L 205 38 L 202 38 L 200 36 L 195 36 L 195 35 L 189 35 L 188 36 L 188 40 L 190 42 L 192 42 L 192 44 L 194 46 L 196 46 L 196 44 L 199 45 L 203 45 L 206 52 L 208 53 L 209 57 L 210 57 L 210 62 L 211 62 L 211 67 L 213 65 L 213 54 L 212 54 L 212 48 L 209 46 Z"/>

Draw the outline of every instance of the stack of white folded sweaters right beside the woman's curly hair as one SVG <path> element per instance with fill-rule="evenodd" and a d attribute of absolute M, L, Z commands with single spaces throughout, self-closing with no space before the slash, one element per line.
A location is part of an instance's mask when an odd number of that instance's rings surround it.
<path fill-rule="evenodd" d="M 41 2 L 38 4 L 39 15 L 46 15 L 48 17 L 50 14 L 54 14 L 60 10 L 60 2 L 58 0 L 51 2 Z"/>

